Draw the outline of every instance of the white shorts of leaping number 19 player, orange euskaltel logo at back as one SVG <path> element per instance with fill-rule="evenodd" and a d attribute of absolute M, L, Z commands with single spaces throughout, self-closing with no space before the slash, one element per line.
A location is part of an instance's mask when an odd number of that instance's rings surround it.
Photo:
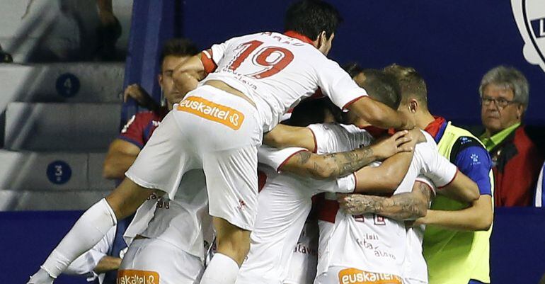
<path fill-rule="evenodd" d="M 185 96 L 157 127 L 125 173 L 174 199 L 183 174 L 203 169 L 210 215 L 253 229 L 257 212 L 257 149 L 263 126 L 245 99 L 212 86 Z"/>

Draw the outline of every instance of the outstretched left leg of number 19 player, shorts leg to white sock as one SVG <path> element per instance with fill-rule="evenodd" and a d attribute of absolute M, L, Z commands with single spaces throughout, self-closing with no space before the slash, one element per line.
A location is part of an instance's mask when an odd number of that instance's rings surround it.
<path fill-rule="evenodd" d="M 117 220 L 136 211 L 155 191 L 151 188 L 173 196 L 191 161 L 184 142 L 169 113 L 127 171 L 127 178 L 79 218 L 29 283 L 52 283 L 71 261 L 102 239 Z"/>

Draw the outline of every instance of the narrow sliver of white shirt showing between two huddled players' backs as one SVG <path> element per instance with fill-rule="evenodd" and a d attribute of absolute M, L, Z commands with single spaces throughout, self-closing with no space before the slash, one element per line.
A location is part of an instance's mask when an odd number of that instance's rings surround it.
<path fill-rule="evenodd" d="M 307 221 L 289 262 L 285 284 L 311 284 L 316 277 L 318 262 L 318 224 Z"/>

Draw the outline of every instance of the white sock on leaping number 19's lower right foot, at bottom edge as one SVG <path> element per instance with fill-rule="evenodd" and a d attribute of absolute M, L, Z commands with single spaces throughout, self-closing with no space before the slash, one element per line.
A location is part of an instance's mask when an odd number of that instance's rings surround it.
<path fill-rule="evenodd" d="M 216 253 L 208 264 L 200 284 L 234 284 L 239 264 L 225 254 Z"/>

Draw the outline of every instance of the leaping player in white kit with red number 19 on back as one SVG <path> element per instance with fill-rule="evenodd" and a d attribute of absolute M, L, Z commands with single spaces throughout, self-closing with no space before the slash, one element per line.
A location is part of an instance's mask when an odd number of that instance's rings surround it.
<path fill-rule="evenodd" d="M 257 149 L 263 132 L 290 106 L 320 88 L 373 125 L 414 126 L 406 115 L 367 98 L 327 59 L 338 23 L 330 4 L 299 1 L 287 10 L 285 34 L 233 38 L 181 64 L 173 73 L 176 86 L 182 93 L 194 91 L 166 115 L 127 178 L 82 215 L 30 283 L 52 282 L 151 193 L 173 198 L 183 174 L 197 168 L 205 171 L 218 246 L 201 283 L 234 283 L 257 212 Z"/>

